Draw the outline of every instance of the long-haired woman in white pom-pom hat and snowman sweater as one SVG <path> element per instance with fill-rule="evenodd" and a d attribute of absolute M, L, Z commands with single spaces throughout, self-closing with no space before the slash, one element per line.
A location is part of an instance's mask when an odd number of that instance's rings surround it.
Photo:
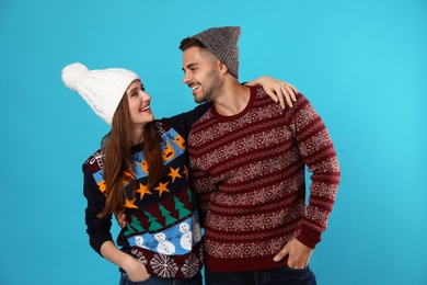
<path fill-rule="evenodd" d="M 91 247 L 119 267 L 120 284 L 201 284 L 204 244 L 185 141 L 210 103 L 154 121 L 151 98 L 130 70 L 90 71 L 72 64 L 64 68 L 62 81 L 112 127 L 82 166 Z M 270 93 L 278 87 L 265 81 Z M 120 212 L 126 226 L 119 249 L 111 220 Z"/>

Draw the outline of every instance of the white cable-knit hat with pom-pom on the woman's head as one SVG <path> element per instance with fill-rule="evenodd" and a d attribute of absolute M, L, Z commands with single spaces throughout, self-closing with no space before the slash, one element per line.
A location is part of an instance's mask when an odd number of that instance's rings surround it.
<path fill-rule="evenodd" d="M 62 69 L 62 81 L 77 91 L 102 119 L 112 125 L 113 115 L 129 84 L 139 77 L 124 68 L 89 70 L 76 62 Z"/>

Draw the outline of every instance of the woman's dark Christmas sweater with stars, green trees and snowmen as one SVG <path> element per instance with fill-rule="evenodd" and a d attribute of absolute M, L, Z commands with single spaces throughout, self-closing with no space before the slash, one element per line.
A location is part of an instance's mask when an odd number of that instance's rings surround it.
<path fill-rule="evenodd" d="M 189 183 L 186 140 L 192 124 L 210 104 L 199 105 L 169 119 L 155 123 L 162 136 L 166 178 L 147 189 L 148 169 L 142 145 L 132 147 L 135 178 L 139 185 L 135 196 L 127 191 L 126 223 L 117 237 L 120 249 L 139 259 L 149 274 L 163 278 L 185 278 L 197 274 L 204 265 L 204 242 L 196 209 L 195 195 Z M 95 151 L 82 166 L 84 196 L 88 200 L 85 223 L 91 247 L 101 254 L 105 241 L 113 241 L 112 216 L 96 215 L 105 206 L 104 151 Z M 130 173 L 129 173 L 130 174 Z"/>

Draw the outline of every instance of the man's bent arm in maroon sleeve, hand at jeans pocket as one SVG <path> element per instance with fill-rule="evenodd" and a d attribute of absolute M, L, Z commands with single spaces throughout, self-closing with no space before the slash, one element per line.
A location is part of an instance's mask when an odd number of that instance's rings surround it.
<path fill-rule="evenodd" d="M 292 127 L 298 149 L 311 175 L 310 198 L 301 230 L 274 258 L 280 261 L 288 255 L 288 265 L 307 267 L 312 251 L 326 229 L 339 183 L 339 164 L 331 136 L 319 114 L 304 96 L 299 96 L 295 107 Z"/>

